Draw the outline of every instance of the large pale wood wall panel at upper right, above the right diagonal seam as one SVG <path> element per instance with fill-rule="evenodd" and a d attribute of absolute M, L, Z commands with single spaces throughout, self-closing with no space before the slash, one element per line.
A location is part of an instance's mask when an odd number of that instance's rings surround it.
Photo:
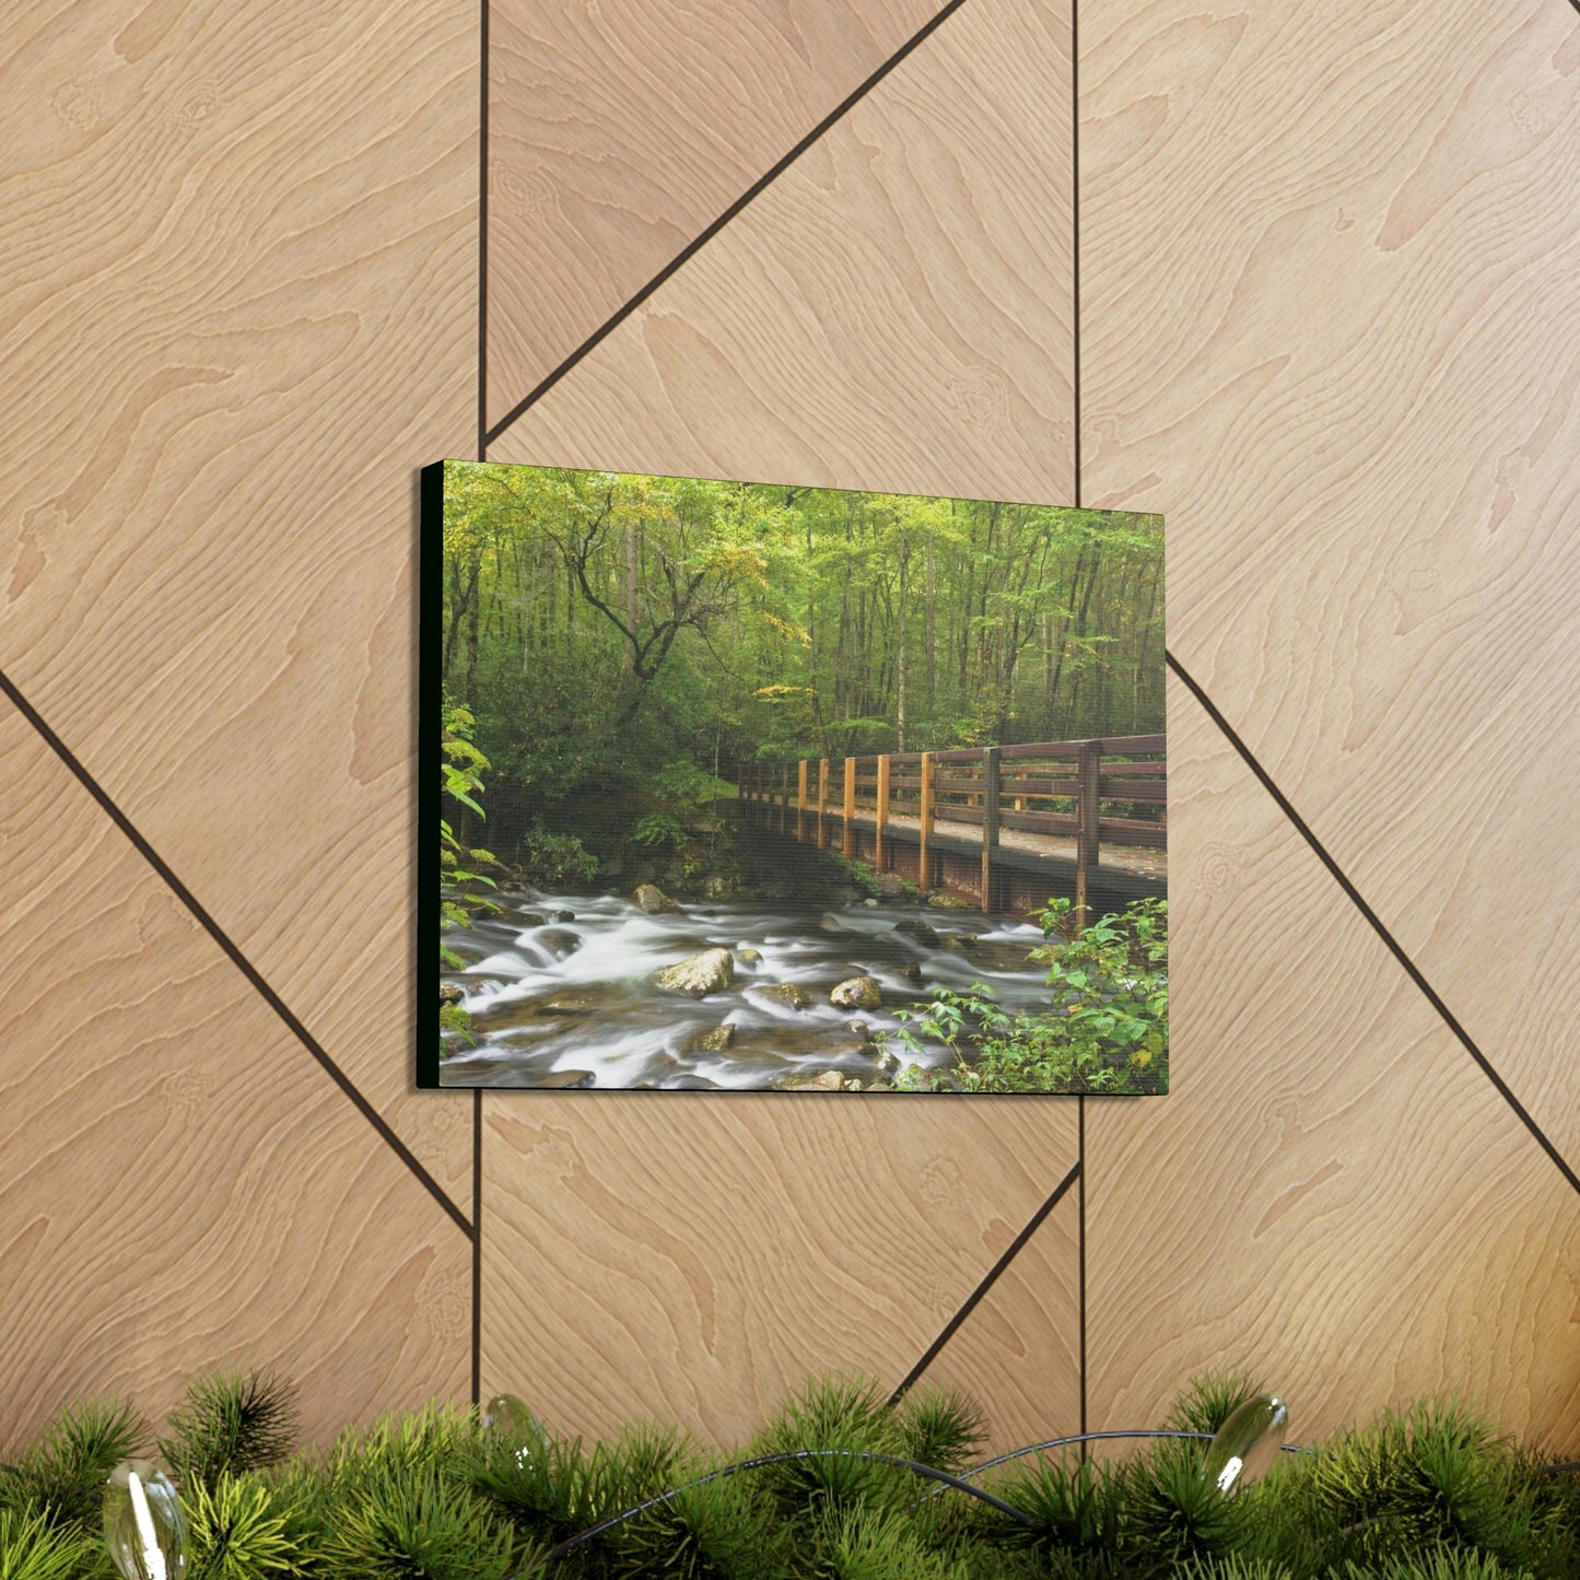
<path fill-rule="evenodd" d="M 1580 16 L 1081 13 L 1085 502 L 1580 1166 Z"/>

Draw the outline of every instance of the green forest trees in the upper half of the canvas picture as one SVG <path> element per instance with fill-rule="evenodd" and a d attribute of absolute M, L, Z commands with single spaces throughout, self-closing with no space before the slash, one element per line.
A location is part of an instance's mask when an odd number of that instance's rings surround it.
<path fill-rule="evenodd" d="M 744 762 L 1163 730 L 1157 515 L 449 461 L 441 597 L 528 869 Z"/>

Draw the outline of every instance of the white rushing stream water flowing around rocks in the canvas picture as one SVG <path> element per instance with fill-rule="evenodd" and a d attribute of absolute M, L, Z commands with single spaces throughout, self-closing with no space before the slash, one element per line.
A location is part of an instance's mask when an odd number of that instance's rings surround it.
<path fill-rule="evenodd" d="M 931 988 L 980 981 L 1010 1010 L 1048 1006 L 1046 967 L 1027 961 L 1041 932 L 1003 916 L 784 901 L 651 916 L 615 896 L 496 897 L 501 915 L 446 937 L 465 969 L 444 981 L 461 989 L 477 1033 L 476 1048 L 450 1044 L 446 1085 L 763 1089 L 828 1070 L 871 1085 L 893 1071 L 874 1033 L 899 1025 L 894 1011 L 926 1002 Z M 923 924 L 921 937 L 896 931 L 907 921 Z M 694 999 L 656 984 L 659 970 L 709 948 L 732 953 L 728 988 Z M 878 983 L 882 1005 L 836 1008 L 830 991 L 863 975 Z M 784 984 L 801 989 L 804 1008 L 771 991 Z M 698 1046 L 720 1027 L 733 1030 L 713 1041 L 728 1038 L 727 1048 Z M 934 1048 L 916 1062 L 946 1065 L 950 1054 Z"/>

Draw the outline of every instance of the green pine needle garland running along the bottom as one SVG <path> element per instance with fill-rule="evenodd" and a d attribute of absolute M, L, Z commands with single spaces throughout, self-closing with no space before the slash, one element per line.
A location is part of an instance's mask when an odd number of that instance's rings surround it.
<path fill-rule="evenodd" d="M 1255 1392 L 1198 1378 L 1169 1425 L 1210 1433 Z M 1229 1496 L 1179 1436 L 973 1469 L 969 1400 L 890 1408 L 848 1378 L 806 1384 L 732 1458 L 523 1419 L 430 1408 L 291 1457 L 288 1386 L 205 1373 L 156 1446 L 188 1580 L 1580 1580 L 1580 1476 L 1457 1401 L 1386 1411 Z M 103 1485 L 147 1438 L 128 1405 L 88 1401 L 6 1454 L 0 1580 L 114 1580 Z"/>

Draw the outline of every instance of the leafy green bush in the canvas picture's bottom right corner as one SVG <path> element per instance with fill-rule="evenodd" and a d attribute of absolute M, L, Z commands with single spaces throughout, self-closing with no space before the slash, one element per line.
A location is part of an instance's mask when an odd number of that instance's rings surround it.
<path fill-rule="evenodd" d="M 1049 1008 L 1006 1014 L 991 988 L 935 988 L 926 1005 L 901 1011 L 908 1025 L 886 1041 L 913 1057 L 923 1041 L 954 1055 L 948 1071 L 910 1063 L 905 1090 L 948 1081 L 965 1092 L 1166 1092 L 1169 1079 L 1168 901 L 1147 899 L 1089 926 L 1066 899 L 1038 913 L 1048 943 Z M 912 1030 L 915 1027 L 915 1030 Z"/>

